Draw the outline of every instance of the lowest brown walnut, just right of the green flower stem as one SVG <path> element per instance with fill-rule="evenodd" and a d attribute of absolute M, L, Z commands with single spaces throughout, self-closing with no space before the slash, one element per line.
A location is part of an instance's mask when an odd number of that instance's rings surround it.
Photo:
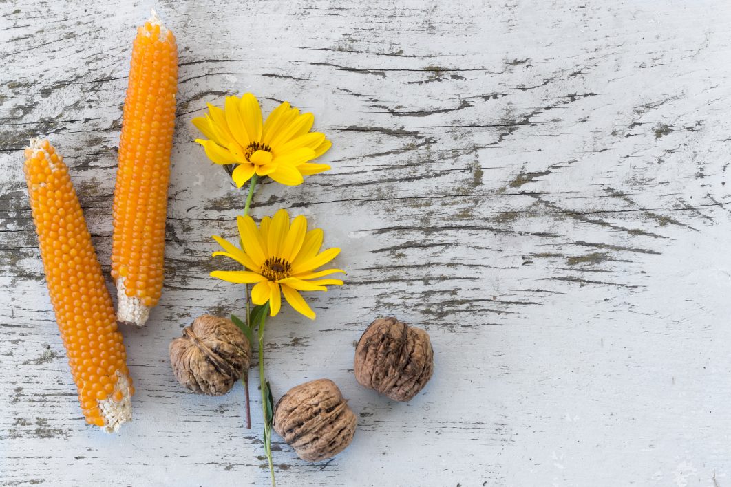
<path fill-rule="evenodd" d="M 356 425 L 355 413 L 330 379 L 295 386 L 274 407 L 274 431 L 303 460 L 325 460 L 345 450 Z"/>

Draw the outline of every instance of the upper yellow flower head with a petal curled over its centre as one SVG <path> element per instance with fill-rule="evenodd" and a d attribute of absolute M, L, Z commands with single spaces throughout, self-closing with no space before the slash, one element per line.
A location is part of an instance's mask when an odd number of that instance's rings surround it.
<path fill-rule="evenodd" d="M 327 164 L 309 161 L 322 156 L 332 142 L 311 132 L 314 115 L 300 114 L 289 103 L 276 107 L 262 124 L 259 101 L 251 93 L 227 96 L 224 110 L 208 104 L 205 117 L 192 120 L 208 140 L 195 139 L 216 164 L 238 164 L 232 178 L 240 188 L 251 176 L 269 176 L 296 186 L 303 176 L 327 171 Z"/>

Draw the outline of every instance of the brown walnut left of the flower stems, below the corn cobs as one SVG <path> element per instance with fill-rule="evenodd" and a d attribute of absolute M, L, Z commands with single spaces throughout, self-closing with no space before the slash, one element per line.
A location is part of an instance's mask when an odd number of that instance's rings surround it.
<path fill-rule="evenodd" d="M 249 340 L 226 318 L 202 315 L 170 343 L 175 378 L 197 394 L 226 394 L 250 363 Z"/>

